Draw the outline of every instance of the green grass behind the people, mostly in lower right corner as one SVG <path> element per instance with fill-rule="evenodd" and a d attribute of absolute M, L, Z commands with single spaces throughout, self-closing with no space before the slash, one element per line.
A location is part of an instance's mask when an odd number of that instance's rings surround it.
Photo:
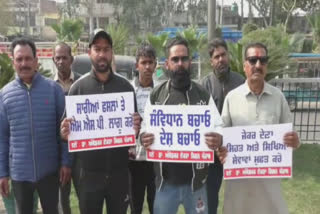
<path fill-rule="evenodd" d="M 222 214 L 223 188 L 220 191 L 219 214 Z M 304 144 L 293 153 L 293 178 L 283 179 L 283 194 L 288 203 L 290 214 L 320 213 L 320 145 Z M 74 190 L 71 196 L 73 214 L 78 214 L 78 201 Z M 128 214 L 130 212 L 128 211 Z M 143 214 L 147 214 L 148 205 L 144 204 Z M 184 214 L 179 207 L 178 214 Z"/>

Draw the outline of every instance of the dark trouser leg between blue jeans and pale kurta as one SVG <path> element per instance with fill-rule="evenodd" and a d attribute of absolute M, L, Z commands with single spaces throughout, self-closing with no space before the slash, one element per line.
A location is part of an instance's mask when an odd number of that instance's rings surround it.
<path fill-rule="evenodd" d="M 217 214 L 219 205 L 219 190 L 223 177 L 223 166 L 221 163 L 210 164 L 207 178 L 208 213 Z"/>

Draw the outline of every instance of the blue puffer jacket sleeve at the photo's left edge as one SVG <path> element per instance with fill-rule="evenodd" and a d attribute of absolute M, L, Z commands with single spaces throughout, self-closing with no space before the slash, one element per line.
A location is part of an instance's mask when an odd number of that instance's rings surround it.
<path fill-rule="evenodd" d="M 9 176 L 9 121 L 0 92 L 0 178 Z"/>

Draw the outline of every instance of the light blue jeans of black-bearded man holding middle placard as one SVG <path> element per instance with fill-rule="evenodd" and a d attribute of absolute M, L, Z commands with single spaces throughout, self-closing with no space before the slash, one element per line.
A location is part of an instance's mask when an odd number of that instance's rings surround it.
<path fill-rule="evenodd" d="M 192 192 L 191 184 L 173 185 L 164 182 L 156 192 L 154 214 L 174 214 L 183 204 L 186 214 L 207 214 L 207 191 L 205 185 Z"/>

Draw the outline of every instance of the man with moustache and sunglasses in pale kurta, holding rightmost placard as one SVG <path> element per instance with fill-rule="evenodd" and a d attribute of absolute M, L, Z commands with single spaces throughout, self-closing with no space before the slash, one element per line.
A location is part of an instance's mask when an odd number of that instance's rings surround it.
<path fill-rule="evenodd" d="M 230 127 L 292 122 L 284 95 L 264 81 L 268 64 L 267 48 L 261 43 L 249 44 L 245 48 L 243 59 L 247 80 L 227 95 L 222 111 L 224 125 Z M 286 133 L 283 140 L 287 146 L 299 146 L 299 138 L 294 131 Z M 288 214 L 281 193 L 281 179 L 226 181 L 224 213 Z"/>

